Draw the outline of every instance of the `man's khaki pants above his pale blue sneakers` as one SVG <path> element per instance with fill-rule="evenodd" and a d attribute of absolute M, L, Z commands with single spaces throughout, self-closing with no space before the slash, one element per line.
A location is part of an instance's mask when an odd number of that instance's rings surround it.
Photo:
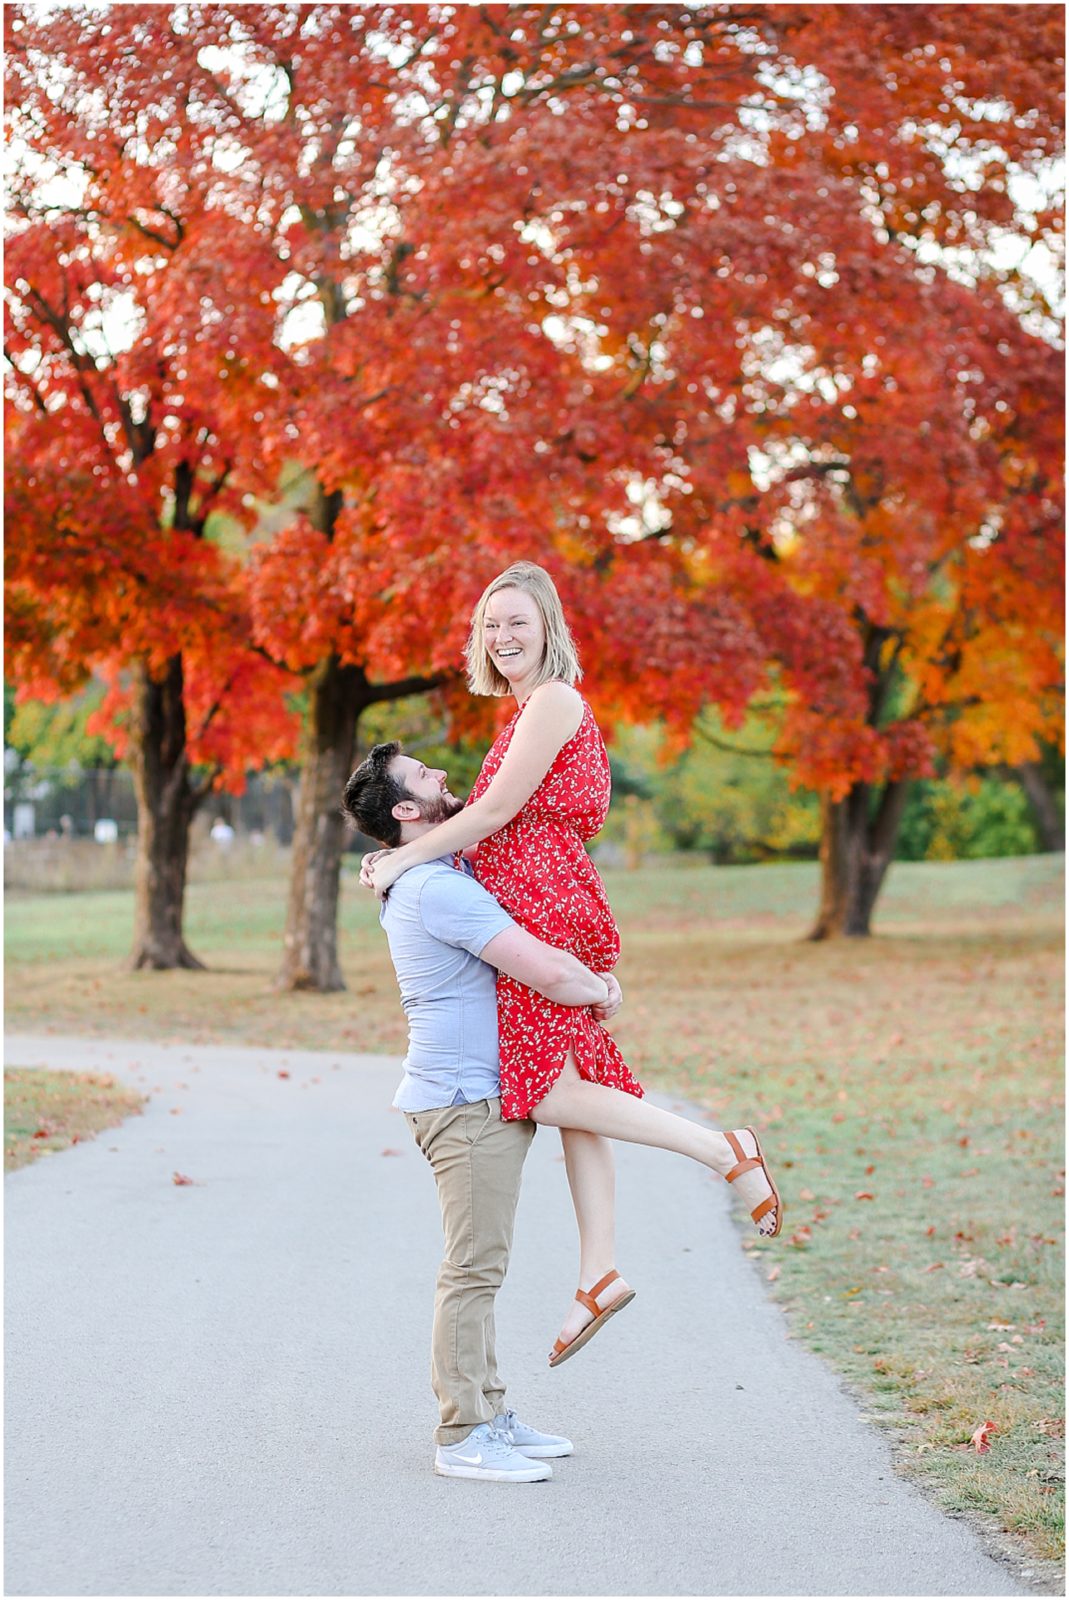
<path fill-rule="evenodd" d="M 494 1352 L 494 1296 L 512 1250 L 515 1202 L 533 1122 L 502 1122 L 501 1101 L 405 1112 L 438 1186 L 445 1256 L 430 1336 L 430 1382 L 442 1422 L 435 1443 L 454 1445 L 504 1411 Z"/>

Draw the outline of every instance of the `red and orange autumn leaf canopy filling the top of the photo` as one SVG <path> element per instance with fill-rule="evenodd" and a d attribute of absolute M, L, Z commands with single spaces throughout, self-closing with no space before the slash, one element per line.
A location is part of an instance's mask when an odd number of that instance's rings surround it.
<path fill-rule="evenodd" d="M 683 736 L 773 669 L 834 794 L 1050 736 L 1061 376 L 997 261 L 1058 234 L 1058 8 L 13 14 L 27 691 L 181 648 L 237 771 L 291 736 L 251 642 L 445 675 L 470 726 L 466 618 L 525 557 L 608 718 Z"/>

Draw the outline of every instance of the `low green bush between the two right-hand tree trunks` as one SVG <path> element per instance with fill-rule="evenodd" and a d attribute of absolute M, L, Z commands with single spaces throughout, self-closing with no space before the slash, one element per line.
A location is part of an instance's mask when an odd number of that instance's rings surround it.
<path fill-rule="evenodd" d="M 973 778 L 914 784 L 898 838 L 899 861 L 979 861 L 1040 848 L 1027 798 L 1013 781 Z"/>

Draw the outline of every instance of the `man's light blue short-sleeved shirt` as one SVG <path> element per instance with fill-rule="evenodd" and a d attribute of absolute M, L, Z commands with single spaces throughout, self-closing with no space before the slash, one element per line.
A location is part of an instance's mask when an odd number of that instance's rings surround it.
<path fill-rule="evenodd" d="M 379 910 L 408 1018 L 400 1110 L 435 1110 L 501 1093 L 498 974 L 478 955 L 512 918 L 443 856 L 411 867 Z"/>

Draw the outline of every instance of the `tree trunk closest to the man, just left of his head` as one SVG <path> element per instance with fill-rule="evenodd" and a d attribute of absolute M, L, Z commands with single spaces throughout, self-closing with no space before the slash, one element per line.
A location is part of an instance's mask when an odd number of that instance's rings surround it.
<path fill-rule="evenodd" d="M 346 826 L 341 794 L 352 771 L 357 718 L 368 704 L 360 667 L 330 656 L 310 680 L 298 790 L 290 904 L 278 989 L 344 989 L 338 965 L 338 886 Z"/>

